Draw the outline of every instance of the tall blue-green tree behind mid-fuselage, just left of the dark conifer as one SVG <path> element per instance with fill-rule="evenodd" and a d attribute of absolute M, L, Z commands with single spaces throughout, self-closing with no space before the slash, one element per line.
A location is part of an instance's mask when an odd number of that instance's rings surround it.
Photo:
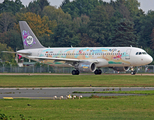
<path fill-rule="evenodd" d="M 107 46 L 110 34 L 110 31 L 108 31 L 109 27 L 110 24 L 108 14 L 104 5 L 97 6 L 91 13 L 90 22 L 88 25 L 88 36 L 93 38 L 96 43 L 100 43 L 101 46 Z"/>

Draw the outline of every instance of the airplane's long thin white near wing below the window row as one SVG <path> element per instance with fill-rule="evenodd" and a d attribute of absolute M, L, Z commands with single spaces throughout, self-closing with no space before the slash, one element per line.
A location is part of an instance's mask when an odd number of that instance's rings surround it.
<path fill-rule="evenodd" d="M 37 56 L 29 56 L 32 59 L 39 59 L 39 60 L 55 60 L 55 61 L 67 61 L 67 62 L 80 62 L 83 60 L 79 59 L 70 59 L 70 58 L 51 58 L 51 57 L 37 57 Z"/>

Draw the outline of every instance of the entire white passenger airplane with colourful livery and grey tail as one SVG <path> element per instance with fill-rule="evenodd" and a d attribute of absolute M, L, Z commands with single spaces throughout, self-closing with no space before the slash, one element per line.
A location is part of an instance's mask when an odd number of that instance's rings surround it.
<path fill-rule="evenodd" d="M 40 63 L 59 67 L 74 67 L 72 75 L 80 72 L 94 72 L 102 74 L 100 68 L 109 67 L 116 71 L 127 71 L 136 74 L 135 66 L 143 66 L 151 63 L 153 58 L 143 49 L 136 47 L 44 47 L 26 21 L 19 21 L 23 50 L 16 53 L 22 57 Z"/>

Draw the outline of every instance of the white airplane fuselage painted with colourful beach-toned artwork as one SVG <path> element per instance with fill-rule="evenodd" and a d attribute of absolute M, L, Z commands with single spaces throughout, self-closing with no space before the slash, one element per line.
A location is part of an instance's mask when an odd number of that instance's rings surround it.
<path fill-rule="evenodd" d="M 30 53 L 22 55 L 28 59 L 31 56 L 78 59 L 81 61 L 95 62 L 98 68 L 101 67 L 128 67 L 147 65 L 153 58 L 143 49 L 135 47 L 76 47 L 76 48 L 40 48 L 24 49 L 20 53 Z M 33 59 L 39 61 L 39 59 Z M 42 60 L 44 64 L 66 67 L 72 62 L 57 60 Z"/>

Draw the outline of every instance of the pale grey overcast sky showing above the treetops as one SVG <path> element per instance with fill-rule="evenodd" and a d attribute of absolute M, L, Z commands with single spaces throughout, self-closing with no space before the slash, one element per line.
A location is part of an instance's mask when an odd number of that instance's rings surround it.
<path fill-rule="evenodd" d="M 0 0 L 0 3 L 2 3 L 4 0 Z M 33 0 L 21 0 L 22 3 L 26 6 L 29 4 L 30 1 Z M 50 5 L 59 7 L 63 0 L 48 0 L 50 2 Z M 73 0 L 70 0 L 73 1 Z M 106 2 L 110 2 L 110 0 L 103 0 Z M 154 0 L 138 0 L 140 2 L 140 7 L 143 11 L 147 13 L 148 10 L 154 10 Z"/>

